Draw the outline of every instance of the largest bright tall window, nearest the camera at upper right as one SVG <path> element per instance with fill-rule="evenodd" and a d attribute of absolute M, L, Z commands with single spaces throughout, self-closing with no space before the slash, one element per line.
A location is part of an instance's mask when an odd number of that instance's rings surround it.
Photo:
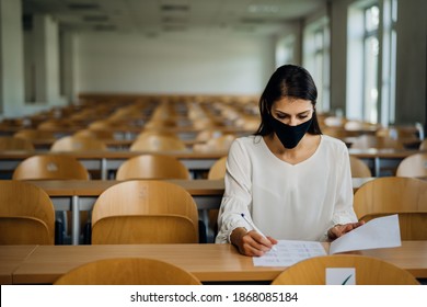
<path fill-rule="evenodd" d="M 363 0 L 348 10 L 347 117 L 394 122 L 396 1 Z"/>

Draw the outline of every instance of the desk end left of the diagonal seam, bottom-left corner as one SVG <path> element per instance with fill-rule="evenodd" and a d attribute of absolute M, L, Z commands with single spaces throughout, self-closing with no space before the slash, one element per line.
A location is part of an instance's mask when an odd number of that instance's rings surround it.
<path fill-rule="evenodd" d="M 36 246 L 0 247 L 0 284 L 13 284 L 13 272 L 34 251 Z"/>

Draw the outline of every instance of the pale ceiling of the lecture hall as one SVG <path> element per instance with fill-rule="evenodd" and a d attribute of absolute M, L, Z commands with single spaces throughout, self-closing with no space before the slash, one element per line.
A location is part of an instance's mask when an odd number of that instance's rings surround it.
<path fill-rule="evenodd" d="M 314 13 L 325 0 L 22 0 L 24 25 L 50 14 L 61 29 L 85 32 L 242 33 L 272 35 Z"/>

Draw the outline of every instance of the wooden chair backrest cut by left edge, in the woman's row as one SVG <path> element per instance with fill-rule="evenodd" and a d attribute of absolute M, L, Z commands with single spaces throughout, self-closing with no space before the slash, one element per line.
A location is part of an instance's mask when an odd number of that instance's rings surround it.
<path fill-rule="evenodd" d="M 0 181 L 0 245 L 54 245 L 55 208 L 41 187 Z"/>

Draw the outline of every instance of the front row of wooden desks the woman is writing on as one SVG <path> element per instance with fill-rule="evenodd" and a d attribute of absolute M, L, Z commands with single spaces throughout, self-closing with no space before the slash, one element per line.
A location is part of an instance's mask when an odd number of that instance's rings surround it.
<path fill-rule="evenodd" d="M 324 243 L 328 249 L 328 243 Z M 427 241 L 403 241 L 401 247 L 351 253 L 370 255 L 427 277 Z M 254 266 L 251 257 L 231 245 L 135 245 L 135 246 L 0 246 L 1 284 L 53 284 L 83 263 L 141 257 L 174 263 L 203 283 L 270 283 L 284 266 Z"/>

